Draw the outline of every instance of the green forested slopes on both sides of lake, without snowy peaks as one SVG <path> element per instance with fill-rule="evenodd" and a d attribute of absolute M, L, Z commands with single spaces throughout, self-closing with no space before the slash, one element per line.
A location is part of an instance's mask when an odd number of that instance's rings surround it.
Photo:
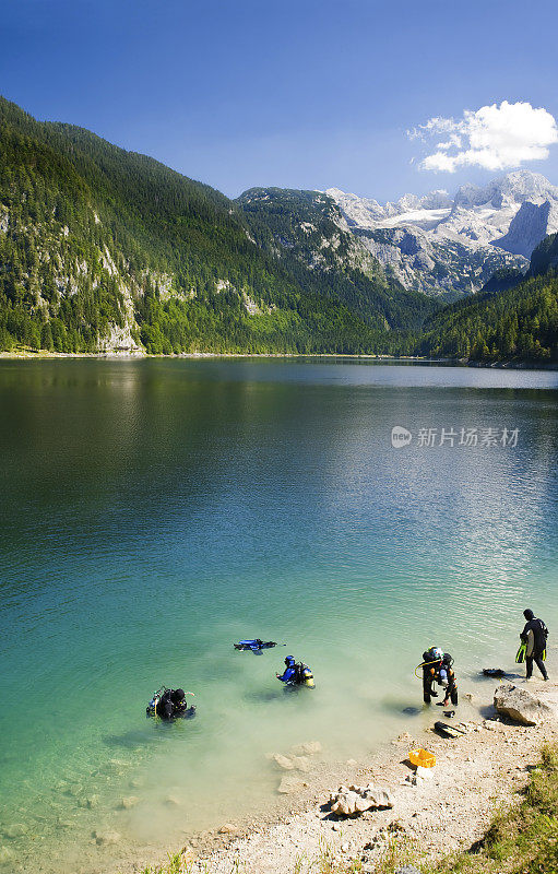
<path fill-rule="evenodd" d="M 236 201 L 0 98 L 0 351 L 557 361 L 558 244 L 474 296 L 405 290 L 317 191 Z"/>

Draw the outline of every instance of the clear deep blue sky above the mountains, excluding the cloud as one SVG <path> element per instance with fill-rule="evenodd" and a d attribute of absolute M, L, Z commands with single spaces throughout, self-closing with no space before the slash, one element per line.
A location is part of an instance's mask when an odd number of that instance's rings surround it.
<path fill-rule="evenodd" d="M 547 0 L 4 0 L 0 91 L 237 196 L 394 199 L 498 175 L 420 170 L 406 130 L 502 101 L 558 116 Z M 558 144 L 522 166 L 558 184 Z"/>

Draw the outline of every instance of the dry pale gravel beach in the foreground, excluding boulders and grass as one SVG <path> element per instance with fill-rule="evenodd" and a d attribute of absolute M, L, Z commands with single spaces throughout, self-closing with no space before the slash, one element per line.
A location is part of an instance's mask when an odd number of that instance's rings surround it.
<path fill-rule="evenodd" d="M 514 682 L 523 685 L 523 681 Z M 185 859 L 192 860 L 189 870 L 289 874 L 301 864 L 297 870 L 304 872 L 325 847 L 339 859 L 361 859 L 364 870 L 367 865 L 372 870 L 393 834 L 415 846 L 419 859 L 470 847 L 482 837 L 495 811 L 517 798 L 542 744 L 558 741 L 557 722 L 524 727 L 498 717 L 491 708 L 494 688 L 494 682 L 487 681 L 478 694 L 474 704 L 486 708 L 487 717 L 467 720 L 470 732 L 462 740 L 442 740 L 428 731 L 414 736 L 405 733 L 367 763 L 347 763 L 336 771 L 318 769 L 306 778 L 308 789 L 290 796 L 288 811 L 275 822 L 227 824 L 224 828 L 233 834 L 198 836 L 185 848 Z M 558 683 L 534 681 L 526 688 L 558 705 Z M 437 757 L 431 779 L 416 787 L 406 780 L 413 772 L 407 754 L 414 746 L 427 747 Z M 343 820 L 331 815 L 331 790 L 341 783 L 370 782 L 390 790 L 392 810 Z M 448 828 L 448 823 L 453 826 Z"/>

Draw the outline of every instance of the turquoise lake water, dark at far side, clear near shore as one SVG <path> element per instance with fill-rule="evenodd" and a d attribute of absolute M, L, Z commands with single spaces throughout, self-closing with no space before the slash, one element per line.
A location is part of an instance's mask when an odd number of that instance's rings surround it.
<path fill-rule="evenodd" d="M 430 643 L 466 685 L 511 665 L 526 605 L 558 627 L 557 388 L 343 361 L 0 363 L 7 870 L 161 854 L 272 803 L 265 754 L 358 757 L 397 731 Z M 420 427 L 519 439 L 420 447 Z M 236 653 L 246 636 L 288 648 Z M 275 681 L 287 650 L 313 693 Z M 195 693 L 195 720 L 144 718 L 163 683 Z"/>

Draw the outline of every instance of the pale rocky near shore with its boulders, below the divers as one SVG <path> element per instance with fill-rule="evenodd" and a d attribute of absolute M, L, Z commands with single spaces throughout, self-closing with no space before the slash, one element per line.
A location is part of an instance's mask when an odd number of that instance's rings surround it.
<path fill-rule="evenodd" d="M 550 670 L 553 662 L 558 659 L 551 660 Z M 280 791 L 288 802 L 283 812 L 224 823 L 214 831 L 193 836 L 181 848 L 177 870 L 302 873 L 325 853 L 334 864 L 357 860 L 366 874 L 394 847 L 403 861 L 415 864 L 468 848 L 482 838 L 499 807 L 514 803 L 543 744 L 558 742 L 558 683 L 525 683 L 511 675 L 512 695 L 543 705 L 536 724 L 523 724 L 494 706 L 495 694 L 501 698 L 509 682 L 486 681 L 474 694 L 465 694 L 463 706 L 449 721 L 464 730 L 458 740 L 442 739 L 432 733 L 431 725 L 414 729 L 367 761 L 339 766 L 321 763 L 316 743 L 289 755 L 274 754 Z M 432 708 L 432 724 L 439 716 Z M 435 754 L 432 769 L 412 766 L 408 753 L 416 747 Z M 314 757 L 316 761 L 308 761 Z M 297 758 L 302 764 L 294 761 Z M 357 803 L 349 816 L 343 804 L 332 810 L 347 793 L 361 800 L 360 808 Z"/>

